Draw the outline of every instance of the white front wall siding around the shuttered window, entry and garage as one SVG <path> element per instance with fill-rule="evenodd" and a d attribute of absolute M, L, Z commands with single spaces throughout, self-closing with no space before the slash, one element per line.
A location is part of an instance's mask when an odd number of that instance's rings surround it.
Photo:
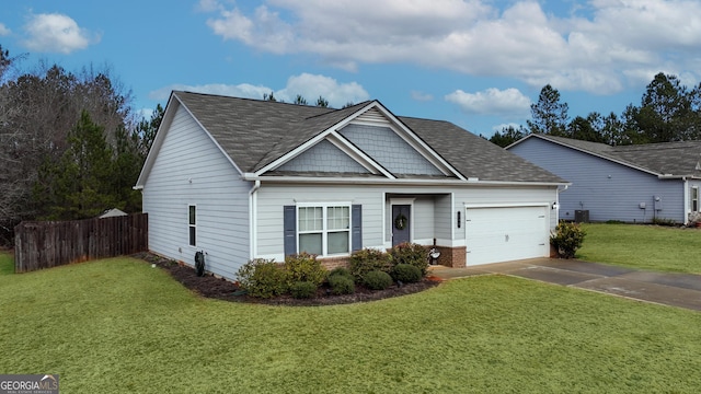
<path fill-rule="evenodd" d="M 452 194 L 452 198 L 451 198 Z M 387 198 L 384 198 L 388 196 Z M 443 246 L 464 246 L 466 204 L 485 206 L 548 205 L 556 200 L 551 187 L 484 186 L 381 186 L 381 185 L 281 185 L 263 182 L 257 192 L 256 257 L 284 258 L 283 207 L 302 202 L 349 202 L 363 206 L 363 246 L 391 246 L 390 199 L 414 199 L 413 241 Z M 453 206 L 450 207 L 450 204 Z M 457 212 L 461 227 L 457 228 Z M 548 209 L 550 228 L 556 225 L 556 210 Z M 445 220 L 445 221 L 444 221 Z"/>

